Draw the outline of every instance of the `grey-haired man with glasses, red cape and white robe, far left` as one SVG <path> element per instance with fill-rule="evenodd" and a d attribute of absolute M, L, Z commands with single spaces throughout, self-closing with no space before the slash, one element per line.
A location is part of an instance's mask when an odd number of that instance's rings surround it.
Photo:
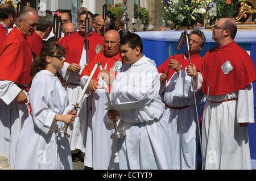
<path fill-rule="evenodd" d="M 28 116 L 25 89 L 30 84 L 32 54 L 26 37 L 34 33 L 38 13 L 24 7 L 16 23 L 0 47 L 0 152 L 9 158 L 10 167 L 14 167 L 16 140 Z"/>

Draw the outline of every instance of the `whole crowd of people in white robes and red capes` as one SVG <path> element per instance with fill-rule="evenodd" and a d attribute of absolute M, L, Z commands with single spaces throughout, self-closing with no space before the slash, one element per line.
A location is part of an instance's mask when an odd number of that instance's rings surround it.
<path fill-rule="evenodd" d="M 92 169 L 195 170 L 201 129 L 202 169 L 251 169 L 247 124 L 254 123 L 256 74 L 234 41 L 234 20 L 214 24 L 217 46 L 204 58 L 197 28 L 189 51 L 156 68 L 141 37 L 124 35 L 121 18 L 110 30 L 108 17 L 85 7 L 77 11 L 78 28 L 68 12 L 59 16 L 57 44 L 51 11 L 0 7 L 0 152 L 11 168 L 73 169 L 72 161 L 84 159 Z M 136 24 L 136 31 L 154 26 Z M 66 124 L 69 137 L 59 132 Z M 125 134 L 111 138 L 116 131 Z"/>

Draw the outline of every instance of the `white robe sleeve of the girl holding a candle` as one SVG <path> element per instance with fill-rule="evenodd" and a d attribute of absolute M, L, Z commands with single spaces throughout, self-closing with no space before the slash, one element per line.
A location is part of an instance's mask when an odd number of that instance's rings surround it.
<path fill-rule="evenodd" d="M 50 130 L 55 130 L 57 127 L 56 121 L 54 121 L 56 113 L 53 112 L 54 107 L 51 102 L 51 96 L 55 96 L 51 94 L 54 85 L 48 77 L 49 75 L 37 78 L 29 92 L 34 123 L 44 134 L 51 133 Z"/>

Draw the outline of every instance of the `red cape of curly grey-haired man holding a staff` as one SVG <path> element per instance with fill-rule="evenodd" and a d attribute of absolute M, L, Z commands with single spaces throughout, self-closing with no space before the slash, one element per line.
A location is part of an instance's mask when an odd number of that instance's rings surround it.
<path fill-rule="evenodd" d="M 174 57 L 174 56 L 169 57 L 165 62 L 163 62 L 162 65 L 160 65 L 158 67 L 158 72 L 159 73 L 166 73 L 166 71 L 169 67 L 168 64 L 169 64 L 170 60 L 172 59 L 172 57 Z M 200 56 L 200 54 L 198 54 L 198 53 L 193 54 L 192 56 L 190 56 L 190 58 L 191 58 L 191 63 L 196 66 L 197 71 L 201 72 L 200 67 L 201 67 L 201 64 L 203 62 L 203 58 Z M 181 68 L 183 70 L 185 70 L 185 68 L 189 65 L 189 59 L 188 58 L 185 59 L 184 54 L 177 54 L 174 59 L 179 62 L 180 66 L 182 65 Z M 172 74 L 174 74 L 174 73 L 175 73 L 175 70 L 170 68 L 169 71 L 168 71 L 167 82 L 170 80 L 170 78 L 172 77 Z"/>

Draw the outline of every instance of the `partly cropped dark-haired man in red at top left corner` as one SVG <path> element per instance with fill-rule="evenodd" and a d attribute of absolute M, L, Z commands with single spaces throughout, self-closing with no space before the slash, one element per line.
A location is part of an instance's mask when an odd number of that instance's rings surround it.
<path fill-rule="evenodd" d="M 17 18 L 17 11 L 13 5 L 5 4 L 0 6 L 0 43 L 3 43 L 8 33 L 8 28 L 13 28 Z"/>

